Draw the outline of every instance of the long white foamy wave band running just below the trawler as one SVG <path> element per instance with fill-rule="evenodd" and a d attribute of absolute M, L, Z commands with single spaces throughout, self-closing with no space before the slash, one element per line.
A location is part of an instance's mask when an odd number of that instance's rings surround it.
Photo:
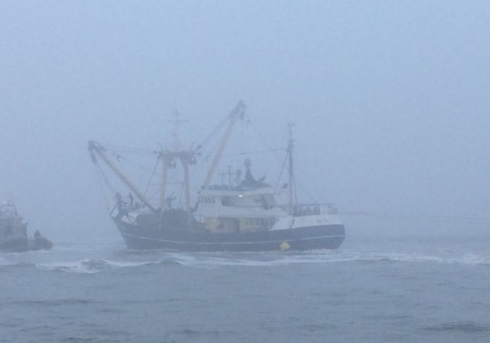
<path fill-rule="evenodd" d="M 372 251 L 311 251 L 308 253 L 148 253 L 148 260 L 106 260 L 86 258 L 64 262 L 16 262 L 0 257 L 0 268 L 34 268 L 42 271 L 96 273 L 123 268 L 184 265 L 215 268 L 224 266 L 268 267 L 309 263 L 440 263 L 455 265 L 490 265 L 490 253 L 442 252 L 398 253 Z"/>

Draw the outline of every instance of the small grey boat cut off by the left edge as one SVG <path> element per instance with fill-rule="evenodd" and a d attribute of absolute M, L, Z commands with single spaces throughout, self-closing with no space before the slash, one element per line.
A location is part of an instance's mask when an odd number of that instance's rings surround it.
<path fill-rule="evenodd" d="M 36 231 L 34 238 L 28 238 L 28 224 L 17 212 L 13 203 L 0 203 L 0 251 L 23 252 L 50 249 L 53 243 Z"/>

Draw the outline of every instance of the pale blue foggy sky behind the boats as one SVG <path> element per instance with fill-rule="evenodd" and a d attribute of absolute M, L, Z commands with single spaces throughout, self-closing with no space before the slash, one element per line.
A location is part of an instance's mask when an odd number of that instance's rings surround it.
<path fill-rule="evenodd" d="M 274 146 L 294 121 L 297 179 L 341 211 L 490 217 L 488 1 L 4 0 L 0 18 L 0 197 L 31 233 L 117 237 L 87 141 L 155 148 L 174 109 L 199 140 L 238 100 Z"/>

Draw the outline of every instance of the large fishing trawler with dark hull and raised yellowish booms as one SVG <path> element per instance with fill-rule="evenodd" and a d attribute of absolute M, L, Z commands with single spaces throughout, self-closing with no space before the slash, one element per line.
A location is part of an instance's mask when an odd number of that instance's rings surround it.
<path fill-rule="evenodd" d="M 251 160 L 244 161 L 245 173 L 237 170 L 227 174 L 228 182 L 212 183 L 217 165 L 223 156 L 232 129 L 244 120 L 245 105 L 239 102 L 225 119 L 226 129 L 191 203 L 189 168 L 197 163 L 202 145 L 191 150 L 163 149 L 155 152 L 161 168 L 160 199 L 155 205 L 124 174 L 109 155 L 109 149 L 91 140 L 88 150 L 96 169 L 102 172 L 98 158 L 119 177 L 138 200 L 129 193 L 114 196 L 115 204 L 108 207 L 116 227 L 131 249 L 167 249 L 175 251 L 304 251 L 335 249 L 345 239 L 345 229 L 333 205 L 307 204 L 295 201 L 292 126 L 289 126 L 287 160 L 289 182 L 273 187 L 256 179 L 251 172 Z M 178 121 L 176 121 L 178 123 Z M 119 160 L 120 155 L 115 155 Z M 181 164 L 183 171 L 184 207 L 174 208 L 174 197 L 167 194 L 169 169 Z M 155 165 L 156 167 L 156 165 Z M 283 166 L 284 167 L 284 166 Z M 103 172 L 102 172 L 103 174 Z M 244 177 L 241 178 L 241 175 Z M 103 176 L 107 181 L 107 176 Z M 281 195 L 286 204 L 278 203 Z"/>

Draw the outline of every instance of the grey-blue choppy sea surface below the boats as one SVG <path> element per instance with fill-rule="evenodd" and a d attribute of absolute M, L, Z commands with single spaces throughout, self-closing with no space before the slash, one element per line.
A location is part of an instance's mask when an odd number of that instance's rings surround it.
<path fill-rule="evenodd" d="M 0 342 L 489 342 L 488 234 L 337 251 L 0 254 Z"/>

